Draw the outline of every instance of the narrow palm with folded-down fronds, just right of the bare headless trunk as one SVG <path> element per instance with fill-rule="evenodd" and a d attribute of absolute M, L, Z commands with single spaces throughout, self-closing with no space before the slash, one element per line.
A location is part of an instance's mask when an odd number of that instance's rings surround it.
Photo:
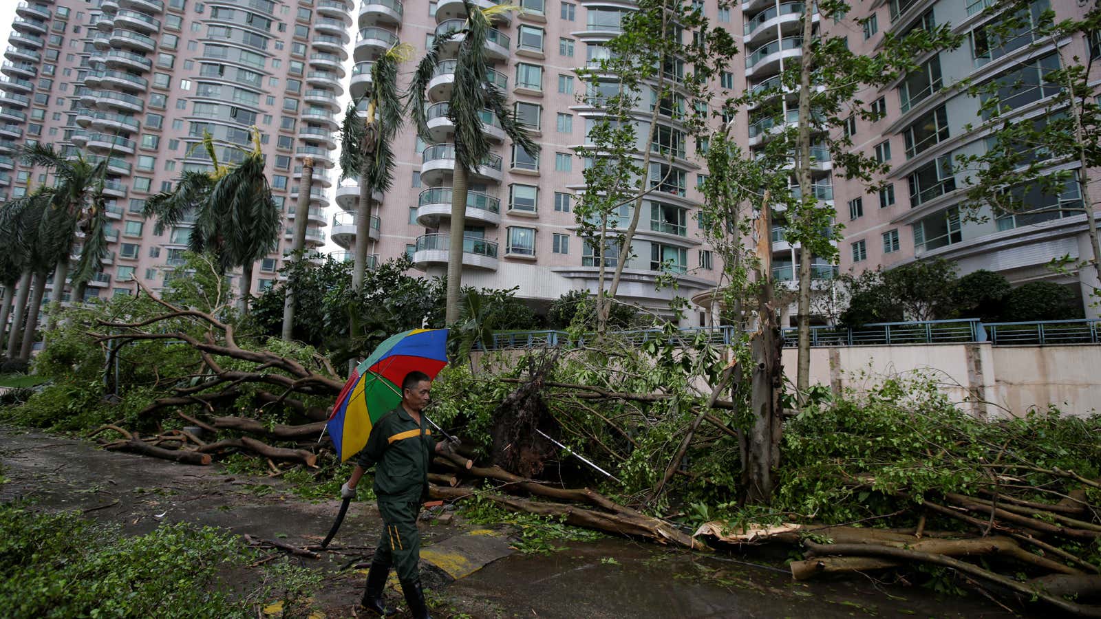
<path fill-rule="evenodd" d="M 340 180 L 359 177 L 359 203 L 356 209 L 356 261 L 351 286 L 360 290 L 367 270 L 367 247 L 371 231 L 371 195 L 386 192 L 393 182 L 394 153 L 391 141 L 404 122 L 404 107 L 397 93 L 397 65 L 407 61 L 413 46 L 394 45 L 371 67 L 371 89 L 360 100 L 348 104 L 340 127 Z M 359 106 L 366 101 L 363 121 Z"/>

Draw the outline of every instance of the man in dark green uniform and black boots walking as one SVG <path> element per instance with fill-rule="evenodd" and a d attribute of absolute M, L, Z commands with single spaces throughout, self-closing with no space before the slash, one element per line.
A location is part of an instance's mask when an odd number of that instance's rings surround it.
<path fill-rule="evenodd" d="M 371 428 L 367 446 L 355 456 L 356 468 L 340 487 L 340 498 L 356 496 L 356 485 L 374 466 L 374 493 L 382 514 L 382 539 L 367 574 L 362 606 L 379 615 L 391 615 L 382 601 L 390 567 L 405 595 L 410 613 L 428 619 L 421 587 L 421 535 L 416 529 L 421 503 L 428 493 L 428 463 L 433 453 L 451 452 L 450 443 L 436 443 L 421 411 L 428 404 L 432 379 L 412 371 L 402 381 L 402 403 Z"/>

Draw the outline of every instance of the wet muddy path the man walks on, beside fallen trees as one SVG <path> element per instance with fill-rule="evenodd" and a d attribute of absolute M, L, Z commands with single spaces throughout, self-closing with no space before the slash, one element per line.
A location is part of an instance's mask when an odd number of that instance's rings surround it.
<path fill-rule="evenodd" d="M 0 427 L 0 465 L 10 479 L 0 486 L 0 501 L 33 497 L 40 509 L 78 509 L 130 534 L 185 521 L 305 546 L 319 542 L 340 504 L 302 500 L 279 478 L 109 453 L 10 427 Z M 357 557 L 373 547 L 380 522 L 370 502 L 353 503 L 333 544 L 337 552 L 297 560 L 324 575 L 314 600 L 326 618 L 356 616 L 363 575 L 341 568 L 364 561 Z M 977 595 L 945 599 L 862 577 L 794 583 L 780 560 L 709 556 L 630 540 L 568 542 L 549 555 L 522 554 L 510 549 L 513 534 L 508 525 L 487 528 L 458 517 L 446 524 L 422 522 L 422 571 L 434 617 L 1012 616 Z M 404 606 L 391 580 L 390 605 Z"/>

